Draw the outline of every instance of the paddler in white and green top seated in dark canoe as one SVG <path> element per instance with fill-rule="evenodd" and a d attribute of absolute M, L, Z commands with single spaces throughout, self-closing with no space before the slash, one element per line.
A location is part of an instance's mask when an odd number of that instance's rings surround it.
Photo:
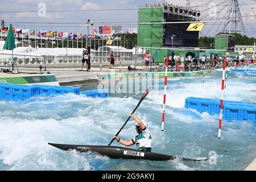
<path fill-rule="evenodd" d="M 151 152 L 152 139 L 150 131 L 146 127 L 146 122 L 137 118 L 134 114 L 131 114 L 130 117 L 134 118 L 134 120 L 136 121 L 135 129 L 138 135 L 129 141 L 122 140 L 118 137 L 114 137 L 114 139 L 116 139 L 117 142 L 120 142 L 125 146 L 132 146 L 133 144 L 136 144 L 139 151 Z"/>

